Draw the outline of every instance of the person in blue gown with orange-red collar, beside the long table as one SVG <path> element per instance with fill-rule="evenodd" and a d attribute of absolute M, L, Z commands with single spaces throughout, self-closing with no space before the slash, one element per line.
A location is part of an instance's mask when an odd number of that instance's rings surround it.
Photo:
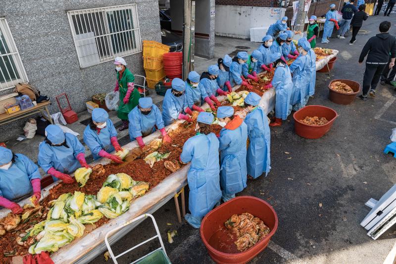
<path fill-rule="evenodd" d="M 247 125 L 241 117 L 234 116 L 232 106 L 220 106 L 217 118 L 223 127 L 219 137 L 221 199 L 227 202 L 247 186 Z"/>

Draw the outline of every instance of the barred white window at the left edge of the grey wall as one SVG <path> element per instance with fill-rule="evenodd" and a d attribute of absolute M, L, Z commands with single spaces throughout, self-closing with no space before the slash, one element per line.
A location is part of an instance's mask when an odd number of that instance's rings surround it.
<path fill-rule="evenodd" d="M 15 84 L 23 82 L 28 82 L 25 68 L 7 21 L 0 17 L 0 91 L 11 89 Z"/>

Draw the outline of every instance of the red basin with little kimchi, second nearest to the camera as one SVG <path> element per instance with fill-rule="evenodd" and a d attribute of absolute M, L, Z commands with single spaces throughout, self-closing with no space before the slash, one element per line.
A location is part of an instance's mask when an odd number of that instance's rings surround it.
<path fill-rule="evenodd" d="M 321 126 L 311 126 L 300 122 L 301 119 L 304 119 L 307 116 L 326 117 L 329 122 Z M 305 106 L 293 114 L 295 121 L 294 130 L 298 136 L 303 138 L 321 138 L 330 130 L 337 116 L 338 114 L 335 110 L 326 106 Z"/>

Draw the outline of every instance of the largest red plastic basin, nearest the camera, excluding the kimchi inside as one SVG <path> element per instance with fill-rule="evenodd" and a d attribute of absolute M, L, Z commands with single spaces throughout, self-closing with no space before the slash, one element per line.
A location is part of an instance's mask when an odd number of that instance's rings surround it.
<path fill-rule="evenodd" d="M 209 243 L 210 237 L 218 231 L 233 214 L 249 212 L 259 217 L 271 229 L 271 232 L 251 248 L 237 254 L 228 254 L 214 249 Z M 265 201 L 252 196 L 239 196 L 213 209 L 202 219 L 200 235 L 209 256 L 219 264 L 243 264 L 263 251 L 278 228 L 278 216 Z"/>

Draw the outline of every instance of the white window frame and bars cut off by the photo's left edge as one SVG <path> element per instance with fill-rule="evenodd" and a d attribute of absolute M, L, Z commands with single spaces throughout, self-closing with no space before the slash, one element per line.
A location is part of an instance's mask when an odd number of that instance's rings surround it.
<path fill-rule="evenodd" d="M 25 67 L 23 66 L 21 57 L 19 55 L 18 49 L 16 48 L 14 38 L 12 37 L 11 31 L 9 30 L 8 23 L 7 23 L 7 20 L 5 19 L 5 17 L 0 17 L 0 30 L 4 36 L 5 43 L 7 44 L 7 47 L 9 50 L 9 53 L 0 53 L 0 61 L 5 64 L 4 57 L 8 57 L 9 60 L 12 59 L 12 61 L 14 62 L 14 66 L 15 66 L 15 68 L 14 68 L 13 65 L 11 64 L 12 71 L 13 71 L 12 73 L 14 76 L 16 76 L 16 74 L 15 74 L 16 72 L 19 75 L 19 79 L 12 80 L 10 72 L 8 71 L 7 68 L 5 68 L 6 72 L 2 72 L 0 70 L 0 75 L 5 80 L 5 82 L 0 83 L 0 92 L 1 92 L 4 90 L 14 88 L 15 85 L 18 83 L 27 83 L 27 82 L 29 82 L 29 79 L 26 74 Z M 0 45 L 5 47 L 2 38 L 0 38 Z M 11 80 L 7 81 L 6 76 L 8 76 L 8 78 Z"/>

